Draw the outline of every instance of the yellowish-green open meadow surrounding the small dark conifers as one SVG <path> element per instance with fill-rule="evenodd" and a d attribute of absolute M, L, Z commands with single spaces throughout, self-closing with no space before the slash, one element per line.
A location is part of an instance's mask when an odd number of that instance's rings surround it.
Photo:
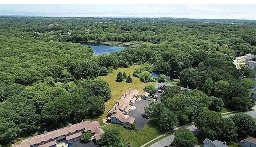
<path fill-rule="evenodd" d="M 103 119 L 106 118 L 108 111 L 113 108 L 114 104 L 121 98 L 123 94 L 125 94 L 128 90 L 134 90 L 134 89 L 137 89 L 140 92 L 144 92 L 143 88 L 146 85 L 156 84 L 156 82 L 148 82 L 148 83 L 140 82 L 139 78 L 132 76 L 133 71 L 139 67 L 140 65 L 134 65 L 128 68 L 120 68 L 120 69 L 114 70 L 113 73 L 109 73 L 107 76 L 100 76 L 100 78 L 108 82 L 111 88 L 111 99 L 108 100 L 108 102 L 105 102 L 104 114 L 99 118 L 93 119 L 93 120 L 98 120 L 100 125 L 105 125 L 103 123 Z M 122 73 L 125 72 L 127 76 L 130 74 L 133 82 L 127 83 L 125 80 L 123 82 L 116 82 L 116 76 L 118 72 L 122 72 Z"/>

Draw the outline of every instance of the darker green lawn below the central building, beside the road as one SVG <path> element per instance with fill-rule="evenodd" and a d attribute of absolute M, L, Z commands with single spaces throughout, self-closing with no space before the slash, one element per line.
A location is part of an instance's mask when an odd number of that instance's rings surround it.
<path fill-rule="evenodd" d="M 121 138 L 124 140 L 124 143 L 130 142 L 133 147 L 140 147 L 148 141 L 162 135 L 166 130 L 159 130 L 157 127 L 153 127 L 149 124 L 146 124 L 143 130 L 135 131 L 130 129 L 125 129 L 122 125 L 118 124 L 109 124 L 102 127 L 104 131 L 108 129 L 118 129 L 121 134 Z"/>

